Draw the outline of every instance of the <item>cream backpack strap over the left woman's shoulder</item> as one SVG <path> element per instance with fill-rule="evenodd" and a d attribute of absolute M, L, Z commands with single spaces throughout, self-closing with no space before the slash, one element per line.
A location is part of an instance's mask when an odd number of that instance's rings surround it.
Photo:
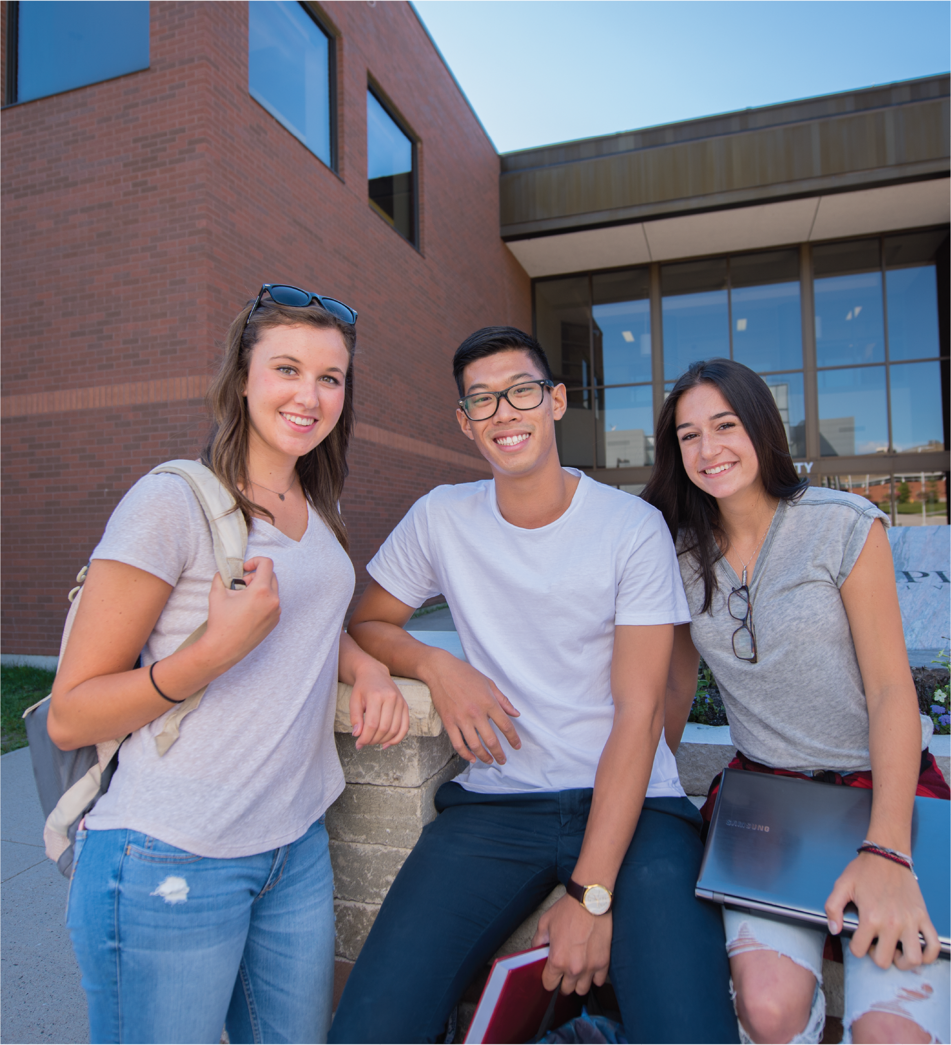
<path fill-rule="evenodd" d="M 180 475 L 191 487 L 191 492 L 202 506 L 208 528 L 211 530 L 214 561 L 218 573 L 222 575 L 225 587 L 231 587 L 233 581 L 239 581 L 243 577 L 245 556 L 248 551 L 248 526 L 245 516 L 237 510 L 234 497 L 225 489 L 217 475 L 210 468 L 206 468 L 201 461 L 166 461 L 165 464 L 153 468 L 149 474 L 158 472 Z M 207 627 L 207 621 L 199 625 L 182 643 L 179 650 L 198 642 L 205 634 Z M 156 748 L 160 756 L 179 739 L 182 719 L 199 706 L 207 689 L 207 686 L 203 686 L 198 693 L 192 693 L 187 700 L 177 704 L 166 715 L 162 732 L 156 737 Z"/>

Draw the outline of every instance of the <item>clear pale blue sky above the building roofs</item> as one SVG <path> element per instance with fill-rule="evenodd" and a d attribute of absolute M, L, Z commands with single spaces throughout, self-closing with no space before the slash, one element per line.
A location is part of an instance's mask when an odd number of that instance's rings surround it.
<path fill-rule="evenodd" d="M 500 152 L 951 70 L 949 0 L 414 0 Z"/>

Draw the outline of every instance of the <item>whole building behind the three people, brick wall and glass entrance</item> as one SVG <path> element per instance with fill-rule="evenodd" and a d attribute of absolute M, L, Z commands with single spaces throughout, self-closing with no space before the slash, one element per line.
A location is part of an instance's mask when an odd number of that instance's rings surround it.
<path fill-rule="evenodd" d="M 642 490 L 672 381 L 728 355 L 799 474 L 947 521 L 951 75 L 500 157 L 410 0 L 5 6 L 0 657 L 55 652 L 114 505 L 196 454 L 263 281 L 359 312 L 358 589 L 417 496 L 488 473 L 449 376 L 486 324 L 534 330 L 600 482 Z"/>

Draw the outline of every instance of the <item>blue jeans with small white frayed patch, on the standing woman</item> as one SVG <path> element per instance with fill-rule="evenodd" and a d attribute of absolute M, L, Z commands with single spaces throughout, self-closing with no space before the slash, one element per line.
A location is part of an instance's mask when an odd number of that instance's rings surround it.
<path fill-rule="evenodd" d="M 67 907 L 91 1045 L 323 1045 L 333 874 L 323 818 L 217 860 L 138 831 L 80 831 Z"/>

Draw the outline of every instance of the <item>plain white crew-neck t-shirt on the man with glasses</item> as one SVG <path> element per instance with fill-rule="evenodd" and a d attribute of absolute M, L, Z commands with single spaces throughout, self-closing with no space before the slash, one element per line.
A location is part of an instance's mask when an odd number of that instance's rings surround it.
<path fill-rule="evenodd" d="M 469 766 L 458 777 L 469 791 L 594 787 L 613 722 L 614 625 L 690 621 L 660 513 L 586 475 L 567 511 L 537 530 L 503 518 L 493 480 L 439 486 L 367 570 L 409 606 L 442 593 L 469 664 L 521 713 L 521 748 L 500 738 L 508 761 Z M 683 793 L 662 736 L 647 794 Z"/>

